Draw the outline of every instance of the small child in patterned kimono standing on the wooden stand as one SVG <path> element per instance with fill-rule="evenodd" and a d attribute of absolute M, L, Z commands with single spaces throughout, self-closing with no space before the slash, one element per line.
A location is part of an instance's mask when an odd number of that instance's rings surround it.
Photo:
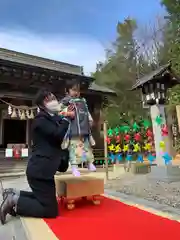
<path fill-rule="evenodd" d="M 72 174 L 78 177 L 80 176 L 78 164 L 82 161 L 87 161 L 90 171 L 96 171 L 91 148 L 95 144 L 91 135 L 93 119 L 88 111 L 86 100 L 80 97 L 80 84 L 78 81 L 68 81 L 66 93 L 66 97 L 61 100 L 61 107 L 63 111 L 66 111 L 68 106 L 72 106 L 75 111 L 75 117 L 71 122 L 69 134 L 64 139 L 65 142 L 62 148 L 68 147 Z"/>

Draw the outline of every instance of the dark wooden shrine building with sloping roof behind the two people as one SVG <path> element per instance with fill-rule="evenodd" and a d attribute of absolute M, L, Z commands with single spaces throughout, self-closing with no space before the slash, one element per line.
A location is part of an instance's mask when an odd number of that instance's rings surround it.
<path fill-rule="evenodd" d="M 15 144 L 31 148 L 31 123 L 37 107 L 33 99 L 45 87 L 59 99 L 65 93 L 66 80 L 79 79 L 94 119 L 96 147 L 103 148 L 100 137 L 102 106 L 115 92 L 98 86 L 85 76 L 83 67 L 0 48 L 0 159 Z"/>

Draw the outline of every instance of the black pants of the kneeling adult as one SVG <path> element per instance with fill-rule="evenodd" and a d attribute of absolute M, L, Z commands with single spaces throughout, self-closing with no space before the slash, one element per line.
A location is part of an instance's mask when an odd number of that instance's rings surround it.
<path fill-rule="evenodd" d="M 54 180 L 27 178 L 32 192 L 21 191 L 17 214 L 24 217 L 54 218 L 58 215 Z"/>

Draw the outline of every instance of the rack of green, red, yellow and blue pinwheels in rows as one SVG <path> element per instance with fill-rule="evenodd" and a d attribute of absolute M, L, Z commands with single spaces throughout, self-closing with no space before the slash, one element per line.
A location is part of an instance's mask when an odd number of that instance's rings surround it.
<path fill-rule="evenodd" d="M 150 119 L 139 118 L 130 123 L 125 120 L 120 126 L 104 131 L 106 176 L 108 166 L 116 170 L 124 164 L 126 172 L 149 173 L 155 161 L 154 138 Z M 107 128 L 107 123 L 105 129 Z M 106 134 L 107 132 L 107 134 Z"/>

